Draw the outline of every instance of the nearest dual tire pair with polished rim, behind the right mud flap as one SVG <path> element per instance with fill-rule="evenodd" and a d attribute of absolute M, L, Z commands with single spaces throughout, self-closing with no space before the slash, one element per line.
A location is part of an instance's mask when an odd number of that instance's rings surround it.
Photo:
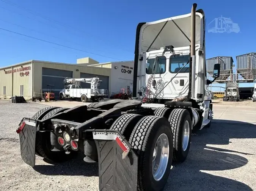
<path fill-rule="evenodd" d="M 120 131 L 138 156 L 138 190 L 163 190 L 171 170 L 173 136 L 164 117 L 124 114 L 110 129 Z"/>

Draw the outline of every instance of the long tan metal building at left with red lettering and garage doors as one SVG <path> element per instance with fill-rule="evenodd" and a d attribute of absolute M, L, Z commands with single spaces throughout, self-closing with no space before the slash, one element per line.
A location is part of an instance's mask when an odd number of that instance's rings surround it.
<path fill-rule="evenodd" d="M 111 89 L 111 69 L 86 66 L 97 63 L 66 64 L 30 60 L 12 66 L 0 68 L 0 98 L 9 99 L 11 96 L 23 95 L 31 99 L 33 95 L 47 91 L 47 85 L 54 85 L 55 97 L 58 99 L 59 91 L 64 88 L 65 77 L 99 77 L 103 83 L 100 89 Z M 85 61 L 83 61 L 85 62 Z"/>

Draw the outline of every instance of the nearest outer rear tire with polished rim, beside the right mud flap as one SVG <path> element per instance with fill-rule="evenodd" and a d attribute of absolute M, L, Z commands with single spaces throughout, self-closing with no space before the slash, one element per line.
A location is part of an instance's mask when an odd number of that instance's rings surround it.
<path fill-rule="evenodd" d="M 165 138 L 158 143 L 159 146 L 163 144 L 166 149 L 157 149 L 155 146 L 159 137 Z M 137 189 L 140 191 L 163 190 L 170 174 L 173 157 L 173 138 L 168 121 L 163 117 L 157 116 L 143 117 L 133 129 L 129 142 L 138 155 Z M 162 153 L 162 156 L 166 156 L 165 160 L 158 159 L 161 156 L 161 152 L 156 154 L 157 151 L 165 152 Z M 154 163 L 159 160 L 162 162 L 162 165 L 161 163 L 159 165 L 162 166 L 162 173 L 158 169 L 156 171 L 158 172 L 157 174 L 153 167 Z"/>

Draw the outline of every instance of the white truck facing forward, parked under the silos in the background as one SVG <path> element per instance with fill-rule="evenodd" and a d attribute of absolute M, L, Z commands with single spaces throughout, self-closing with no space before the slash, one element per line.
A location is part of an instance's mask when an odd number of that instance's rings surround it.
<path fill-rule="evenodd" d="M 239 102 L 239 85 L 236 82 L 226 83 L 225 96 L 223 97 L 223 102 L 227 101 Z"/>

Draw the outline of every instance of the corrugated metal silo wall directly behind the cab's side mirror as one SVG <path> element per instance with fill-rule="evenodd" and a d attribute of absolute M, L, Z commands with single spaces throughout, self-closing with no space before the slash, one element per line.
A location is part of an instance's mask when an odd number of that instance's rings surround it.
<path fill-rule="evenodd" d="M 214 65 L 220 64 L 220 70 L 231 70 L 233 65 L 232 57 L 214 57 L 206 59 L 206 71 L 214 71 Z"/>

